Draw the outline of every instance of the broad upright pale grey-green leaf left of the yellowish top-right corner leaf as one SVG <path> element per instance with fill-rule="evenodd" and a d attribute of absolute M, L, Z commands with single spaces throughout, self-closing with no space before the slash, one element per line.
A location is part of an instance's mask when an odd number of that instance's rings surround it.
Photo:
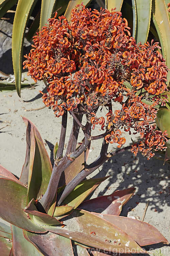
<path fill-rule="evenodd" d="M 149 34 L 152 0 L 135 0 L 135 2 L 137 11 L 137 29 L 135 39 L 137 43 L 141 42 L 144 44 L 146 43 Z"/>

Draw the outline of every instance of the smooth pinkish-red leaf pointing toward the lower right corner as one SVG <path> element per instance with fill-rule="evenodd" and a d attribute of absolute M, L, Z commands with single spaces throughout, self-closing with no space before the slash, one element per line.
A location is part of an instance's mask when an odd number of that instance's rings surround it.
<path fill-rule="evenodd" d="M 94 213 L 100 216 L 105 221 L 116 223 L 116 226 L 121 230 L 129 234 L 140 246 L 165 243 L 169 244 L 167 239 L 152 225 L 138 221 L 137 219 L 132 219 L 122 216 L 106 215 Z M 140 232 L 139 232 L 140 230 Z"/>

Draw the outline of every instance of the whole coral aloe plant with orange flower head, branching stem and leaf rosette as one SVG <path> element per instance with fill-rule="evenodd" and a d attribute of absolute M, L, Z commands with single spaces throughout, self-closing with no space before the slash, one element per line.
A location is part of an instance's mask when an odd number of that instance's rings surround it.
<path fill-rule="evenodd" d="M 56 117 L 62 116 L 60 141 L 54 147 L 52 169 L 38 130 L 23 117 L 27 153 L 20 179 L 3 167 L 0 172 L 0 216 L 11 223 L 11 229 L 0 226 L 4 256 L 123 256 L 147 253 L 144 245 L 168 244 L 150 224 L 119 216 L 135 188 L 84 201 L 106 179 L 85 177 L 125 150 L 120 149 L 126 142 L 122 131 L 140 134 L 141 141 L 131 149 L 135 155 L 140 151 L 149 159 L 153 150 L 165 148 L 166 132 L 151 124 L 155 106 L 166 102 L 162 93 L 168 68 L 158 43 L 136 44 L 127 20 L 113 9 L 91 11 L 77 5 L 70 22 L 56 15 L 34 37 L 24 68 L 35 82 L 47 81 L 43 102 Z M 115 109 L 115 102 L 120 109 Z M 107 110 L 106 118 L 98 114 L 100 107 Z M 63 155 L 68 112 L 73 125 Z M 96 125 L 103 133 L 91 136 Z M 84 139 L 77 147 L 80 129 Z M 88 165 L 90 141 L 101 138 L 100 154 Z M 108 153 L 109 143 L 117 143 L 118 150 Z"/>

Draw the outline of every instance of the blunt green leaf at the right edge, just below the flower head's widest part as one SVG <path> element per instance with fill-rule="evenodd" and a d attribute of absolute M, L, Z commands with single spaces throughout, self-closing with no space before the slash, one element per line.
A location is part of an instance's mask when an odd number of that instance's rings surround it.
<path fill-rule="evenodd" d="M 164 132 L 167 131 L 168 138 L 170 138 L 170 110 L 159 109 L 156 117 L 156 124 L 159 129 Z"/>

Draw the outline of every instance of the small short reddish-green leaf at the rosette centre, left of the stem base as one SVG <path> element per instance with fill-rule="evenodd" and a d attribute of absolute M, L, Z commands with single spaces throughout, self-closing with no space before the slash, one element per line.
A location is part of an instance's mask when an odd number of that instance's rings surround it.
<path fill-rule="evenodd" d="M 37 222 L 38 225 L 61 225 L 60 221 L 58 221 L 56 218 L 46 213 L 39 212 L 35 206 L 34 199 L 30 201 L 27 209 L 24 209 L 23 211 L 28 213 L 29 215 L 33 215 L 33 220 L 34 222 Z"/>

